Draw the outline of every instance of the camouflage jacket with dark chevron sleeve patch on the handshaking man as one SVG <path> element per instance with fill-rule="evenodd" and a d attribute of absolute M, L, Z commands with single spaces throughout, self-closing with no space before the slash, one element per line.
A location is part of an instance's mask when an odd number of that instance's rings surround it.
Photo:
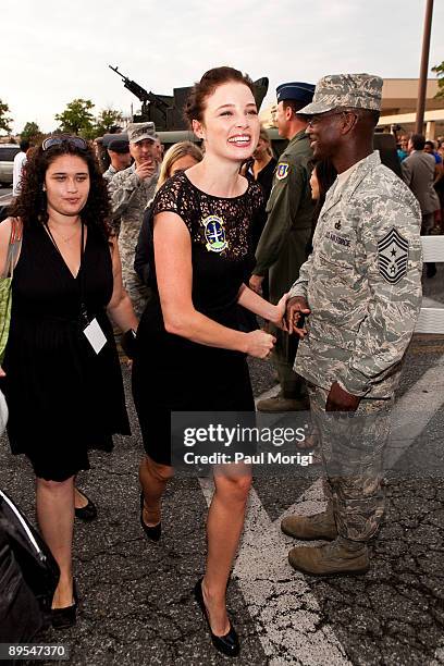
<path fill-rule="evenodd" d="M 421 304 L 421 212 L 378 151 L 336 189 L 337 182 L 289 292 L 311 309 L 295 370 L 323 388 L 337 381 L 350 394 L 384 398 L 398 383 Z"/>

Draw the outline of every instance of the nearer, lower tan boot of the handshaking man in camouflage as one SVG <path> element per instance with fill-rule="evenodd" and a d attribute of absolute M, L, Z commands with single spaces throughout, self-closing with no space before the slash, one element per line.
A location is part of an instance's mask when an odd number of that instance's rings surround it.
<path fill-rule="evenodd" d="M 370 568 L 367 545 L 343 536 L 318 547 L 292 548 L 288 562 L 297 571 L 311 576 L 366 574 Z"/>

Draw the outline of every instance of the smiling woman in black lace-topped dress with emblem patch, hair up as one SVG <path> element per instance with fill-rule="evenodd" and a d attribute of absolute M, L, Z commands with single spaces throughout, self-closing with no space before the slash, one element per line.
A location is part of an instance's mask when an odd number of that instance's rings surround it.
<path fill-rule="evenodd" d="M 282 324 L 286 295 L 272 306 L 243 284 L 251 255 L 249 225 L 262 205 L 257 183 L 239 174 L 259 137 L 252 84 L 218 67 L 196 84 L 186 107 L 203 160 L 170 178 L 153 202 L 157 297 L 139 325 L 133 393 L 147 456 L 140 465 L 141 523 L 160 536 L 160 499 L 172 474 L 171 411 L 254 411 L 246 356 L 264 358 L 274 338 L 240 332 L 237 304 Z M 156 289 L 155 289 L 156 291 Z M 238 652 L 225 606 L 226 583 L 244 525 L 251 481 L 223 466 L 214 474 L 208 562 L 196 597 L 214 646 Z"/>

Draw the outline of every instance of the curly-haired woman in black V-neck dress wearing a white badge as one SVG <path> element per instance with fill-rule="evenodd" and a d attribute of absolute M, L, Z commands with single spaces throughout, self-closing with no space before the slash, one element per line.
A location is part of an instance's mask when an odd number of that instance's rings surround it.
<path fill-rule="evenodd" d="M 122 375 L 108 314 L 137 328 L 108 231 L 108 193 L 79 137 L 46 139 L 30 158 L 12 215 L 23 224 L 12 283 L 2 379 L 13 454 L 36 473 L 37 516 L 60 567 L 52 624 L 75 621 L 72 576 L 74 478 L 88 449 L 111 451 L 130 434 Z M 11 219 L 0 225 L 4 266 Z"/>

